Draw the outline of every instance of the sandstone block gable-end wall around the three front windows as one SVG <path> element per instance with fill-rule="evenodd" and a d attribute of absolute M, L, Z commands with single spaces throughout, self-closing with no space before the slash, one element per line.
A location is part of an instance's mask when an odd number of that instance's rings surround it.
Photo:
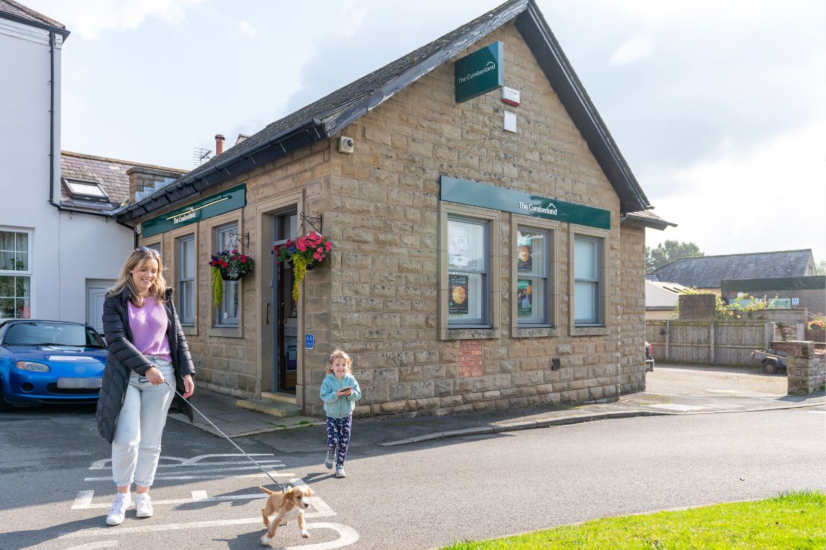
<path fill-rule="evenodd" d="M 355 140 L 354 154 L 333 153 L 331 208 L 325 214 L 325 231 L 337 245 L 330 272 L 333 296 L 329 329 L 316 333 L 330 346 L 354 353 L 364 388 L 357 415 L 441 414 L 618 395 L 624 297 L 615 275 L 605 336 L 567 336 L 569 274 L 563 261 L 560 336 L 514 339 L 503 330 L 501 338 L 474 341 L 481 372 L 463 364 L 465 344 L 439 340 L 442 174 L 610 210 L 610 273 L 620 269 L 615 190 L 515 27 L 503 27 L 472 50 L 494 40 L 506 44 L 506 85 L 521 92 L 522 106 L 508 107 L 519 117 L 518 133 L 502 130 L 504 105 L 496 93 L 456 104 L 453 65 L 447 63 L 344 129 L 342 134 Z M 564 224 L 560 234 L 558 255 L 567 258 Z M 639 256 L 640 266 L 642 238 L 638 232 L 629 239 L 628 251 Z M 501 233 L 491 236 L 491 247 L 507 251 L 510 246 L 510 214 L 503 213 Z M 510 261 L 504 254 L 492 266 L 500 270 L 501 327 L 510 326 Z M 626 275 L 627 292 L 640 304 L 641 326 L 643 272 L 636 282 L 630 272 Z M 626 313 L 633 316 L 630 308 Z M 642 348 L 640 336 L 629 340 L 629 348 L 636 346 L 634 340 Z M 550 369 L 554 357 L 561 360 L 556 371 Z M 639 360 L 629 361 L 629 384 Z M 633 376 L 638 384 L 639 374 Z M 312 378 L 320 383 L 320 374 Z M 310 411 L 318 413 L 320 401 L 307 395 Z"/>

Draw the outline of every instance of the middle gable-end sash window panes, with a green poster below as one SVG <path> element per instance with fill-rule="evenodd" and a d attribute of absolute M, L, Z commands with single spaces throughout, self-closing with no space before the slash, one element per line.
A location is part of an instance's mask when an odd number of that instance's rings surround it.
<path fill-rule="evenodd" d="M 551 323 L 551 235 L 548 231 L 522 228 L 517 232 L 516 318 L 519 327 Z"/>

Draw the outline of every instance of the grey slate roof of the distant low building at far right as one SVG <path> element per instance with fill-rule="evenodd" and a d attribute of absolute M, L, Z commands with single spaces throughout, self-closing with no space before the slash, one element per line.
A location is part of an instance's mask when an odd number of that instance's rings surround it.
<path fill-rule="evenodd" d="M 724 279 L 802 277 L 806 275 L 811 259 L 810 248 L 681 258 L 653 270 L 646 279 L 679 283 L 697 289 L 719 289 Z"/>

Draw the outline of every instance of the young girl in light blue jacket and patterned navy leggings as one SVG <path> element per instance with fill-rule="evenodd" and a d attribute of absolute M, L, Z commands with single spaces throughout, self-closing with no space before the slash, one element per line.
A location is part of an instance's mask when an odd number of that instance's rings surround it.
<path fill-rule="evenodd" d="M 327 458 L 324 465 L 331 470 L 335 462 L 335 477 L 347 477 L 344 458 L 350 444 L 353 409 L 361 397 L 361 388 L 358 388 L 350 364 L 349 355 L 342 350 L 334 350 L 327 365 L 327 376 L 321 383 L 321 401 L 327 413 Z"/>

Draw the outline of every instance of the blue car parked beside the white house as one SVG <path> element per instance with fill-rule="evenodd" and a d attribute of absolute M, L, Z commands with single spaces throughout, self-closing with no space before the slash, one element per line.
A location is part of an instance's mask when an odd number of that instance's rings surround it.
<path fill-rule="evenodd" d="M 13 319 L 0 324 L 0 411 L 14 405 L 93 403 L 107 346 L 77 322 Z"/>

